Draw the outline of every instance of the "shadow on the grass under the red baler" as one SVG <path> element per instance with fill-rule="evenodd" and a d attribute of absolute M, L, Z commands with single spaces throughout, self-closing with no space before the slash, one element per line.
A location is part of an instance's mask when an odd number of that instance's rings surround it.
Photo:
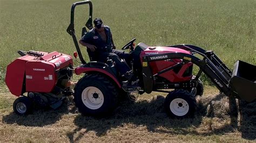
<path fill-rule="evenodd" d="M 68 113 L 75 113 L 76 108 L 73 106 L 70 108 L 69 101 L 72 99 L 66 99 L 63 104 L 56 110 L 53 109 L 33 109 L 33 112 L 30 115 L 26 116 L 18 116 L 16 113 L 11 112 L 9 115 L 5 115 L 2 117 L 2 120 L 6 124 L 18 124 L 24 126 L 45 126 L 56 123 L 56 121 L 60 120 L 62 115 Z"/>

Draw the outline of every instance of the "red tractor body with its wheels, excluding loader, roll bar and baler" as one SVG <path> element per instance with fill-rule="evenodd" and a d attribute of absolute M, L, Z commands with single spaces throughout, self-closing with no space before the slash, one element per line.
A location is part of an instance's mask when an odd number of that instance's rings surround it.
<path fill-rule="evenodd" d="M 172 47 L 150 47 L 143 43 L 133 47 L 134 40 L 122 48 L 130 48 L 133 59 L 134 76 L 132 81 L 126 81 L 130 82 L 130 86 L 122 86 L 125 81 L 122 81 L 111 60 L 107 63 L 91 61 L 75 69 L 77 75 L 85 74 L 75 87 L 75 103 L 79 111 L 85 115 L 104 115 L 116 106 L 118 96 L 176 89 L 166 97 L 167 113 L 181 117 L 193 113 L 196 108 L 195 96 L 203 95 L 204 90 L 199 78 L 192 75 L 193 63 L 182 59 L 161 60 L 166 55 L 158 55 L 176 52 L 191 55 L 191 52 Z M 151 59 L 155 61 L 143 61 L 150 55 L 154 55 Z"/>

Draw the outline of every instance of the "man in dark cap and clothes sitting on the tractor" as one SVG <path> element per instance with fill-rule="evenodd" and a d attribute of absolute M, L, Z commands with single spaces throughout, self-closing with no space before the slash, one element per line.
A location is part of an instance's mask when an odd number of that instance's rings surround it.
<path fill-rule="evenodd" d="M 130 80 L 132 77 L 130 67 L 120 61 L 121 58 L 130 63 L 130 54 L 116 49 L 110 27 L 103 25 L 102 19 L 96 18 L 93 24 L 95 27 L 79 40 L 81 45 L 87 47 L 90 60 L 105 62 L 107 58 L 110 58 L 116 63 L 120 74 Z"/>

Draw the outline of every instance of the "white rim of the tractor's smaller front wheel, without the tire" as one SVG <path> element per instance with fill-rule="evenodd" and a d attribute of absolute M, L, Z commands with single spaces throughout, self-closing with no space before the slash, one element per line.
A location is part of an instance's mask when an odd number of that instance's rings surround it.
<path fill-rule="evenodd" d="M 176 116 L 184 116 L 187 114 L 190 109 L 188 103 L 181 98 L 173 99 L 170 104 L 171 112 Z"/>

